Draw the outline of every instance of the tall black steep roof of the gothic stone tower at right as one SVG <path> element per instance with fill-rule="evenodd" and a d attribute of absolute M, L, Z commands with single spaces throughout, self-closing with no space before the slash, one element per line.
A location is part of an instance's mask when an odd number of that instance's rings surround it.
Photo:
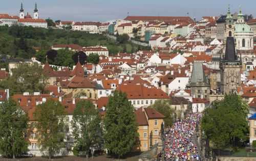
<path fill-rule="evenodd" d="M 234 47 L 233 37 L 227 37 L 225 61 L 229 61 L 229 62 L 237 61 L 237 54 L 236 54 L 236 48 Z"/>

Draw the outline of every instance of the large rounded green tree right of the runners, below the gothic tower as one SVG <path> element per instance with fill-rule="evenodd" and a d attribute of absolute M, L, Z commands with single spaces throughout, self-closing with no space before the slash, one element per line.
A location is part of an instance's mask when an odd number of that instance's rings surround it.
<path fill-rule="evenodd" d="M 206 139 L 213 148 L 236 150 L 241 141 L 245 141 L 248 133 L 246 116 L 248 105 L 238 95 L 225 95 L 221 101 L 215 102 L 213 108 L 206 109 L 202 118 L 202 129 Z"/>

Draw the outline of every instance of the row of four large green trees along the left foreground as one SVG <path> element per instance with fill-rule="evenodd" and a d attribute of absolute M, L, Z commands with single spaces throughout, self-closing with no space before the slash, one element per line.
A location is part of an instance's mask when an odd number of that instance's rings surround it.
<path fill-rule="evenodd" d="M 69 120 L 68 115 L 73 115 Z M 30 116 L 31 119 L 31 116 Z M 79 155 L 104 146 L 109 153 L 122 157 L 136 145 L 138 126 L 134 107 L 122 92 L 115 91 L 109 97 L 102 128 L 99 111 L 89 100 L 80 100 L 73 114 L 57 100 L 49 99 L 36 106 L 34 123 L 29 123 L 27 111 L 22 110 L 13 100 L 0 104 L 0 153 L 15 157 L 28 151 L 28 139 L 36 129 L 36 139 L 41 151 L 47 151 L 52 158 L 65 148 L 64 129 L 72 127 L 73 152 Z"/>

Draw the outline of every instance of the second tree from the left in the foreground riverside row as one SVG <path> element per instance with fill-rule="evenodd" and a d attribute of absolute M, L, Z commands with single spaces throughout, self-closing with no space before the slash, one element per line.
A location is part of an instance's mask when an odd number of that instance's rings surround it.
<path fill-rule="evenodd" d="M 49 159 L 61 148 L 65 147 L 63 139 L 65 133 L 66 112 L 59 101 L 48 99 L 36 106 L 34 118 L 37 121 L 37 139 L 41 151 L 48 151 Z"/>

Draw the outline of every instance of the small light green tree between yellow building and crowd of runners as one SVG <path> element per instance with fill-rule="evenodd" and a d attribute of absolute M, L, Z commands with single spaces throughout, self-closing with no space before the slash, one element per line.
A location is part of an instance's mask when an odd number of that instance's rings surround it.
<path fill-rule="evenodd" d="M 170 102 L 168 100 L 158 100 L 153 105 L 151 105 L 151 108 L 156 109 L 156 111 L 165 116 L 163 119 L 165 126 L 172 126 L 174 122 L 174 110 L 170 108 Z"/>

